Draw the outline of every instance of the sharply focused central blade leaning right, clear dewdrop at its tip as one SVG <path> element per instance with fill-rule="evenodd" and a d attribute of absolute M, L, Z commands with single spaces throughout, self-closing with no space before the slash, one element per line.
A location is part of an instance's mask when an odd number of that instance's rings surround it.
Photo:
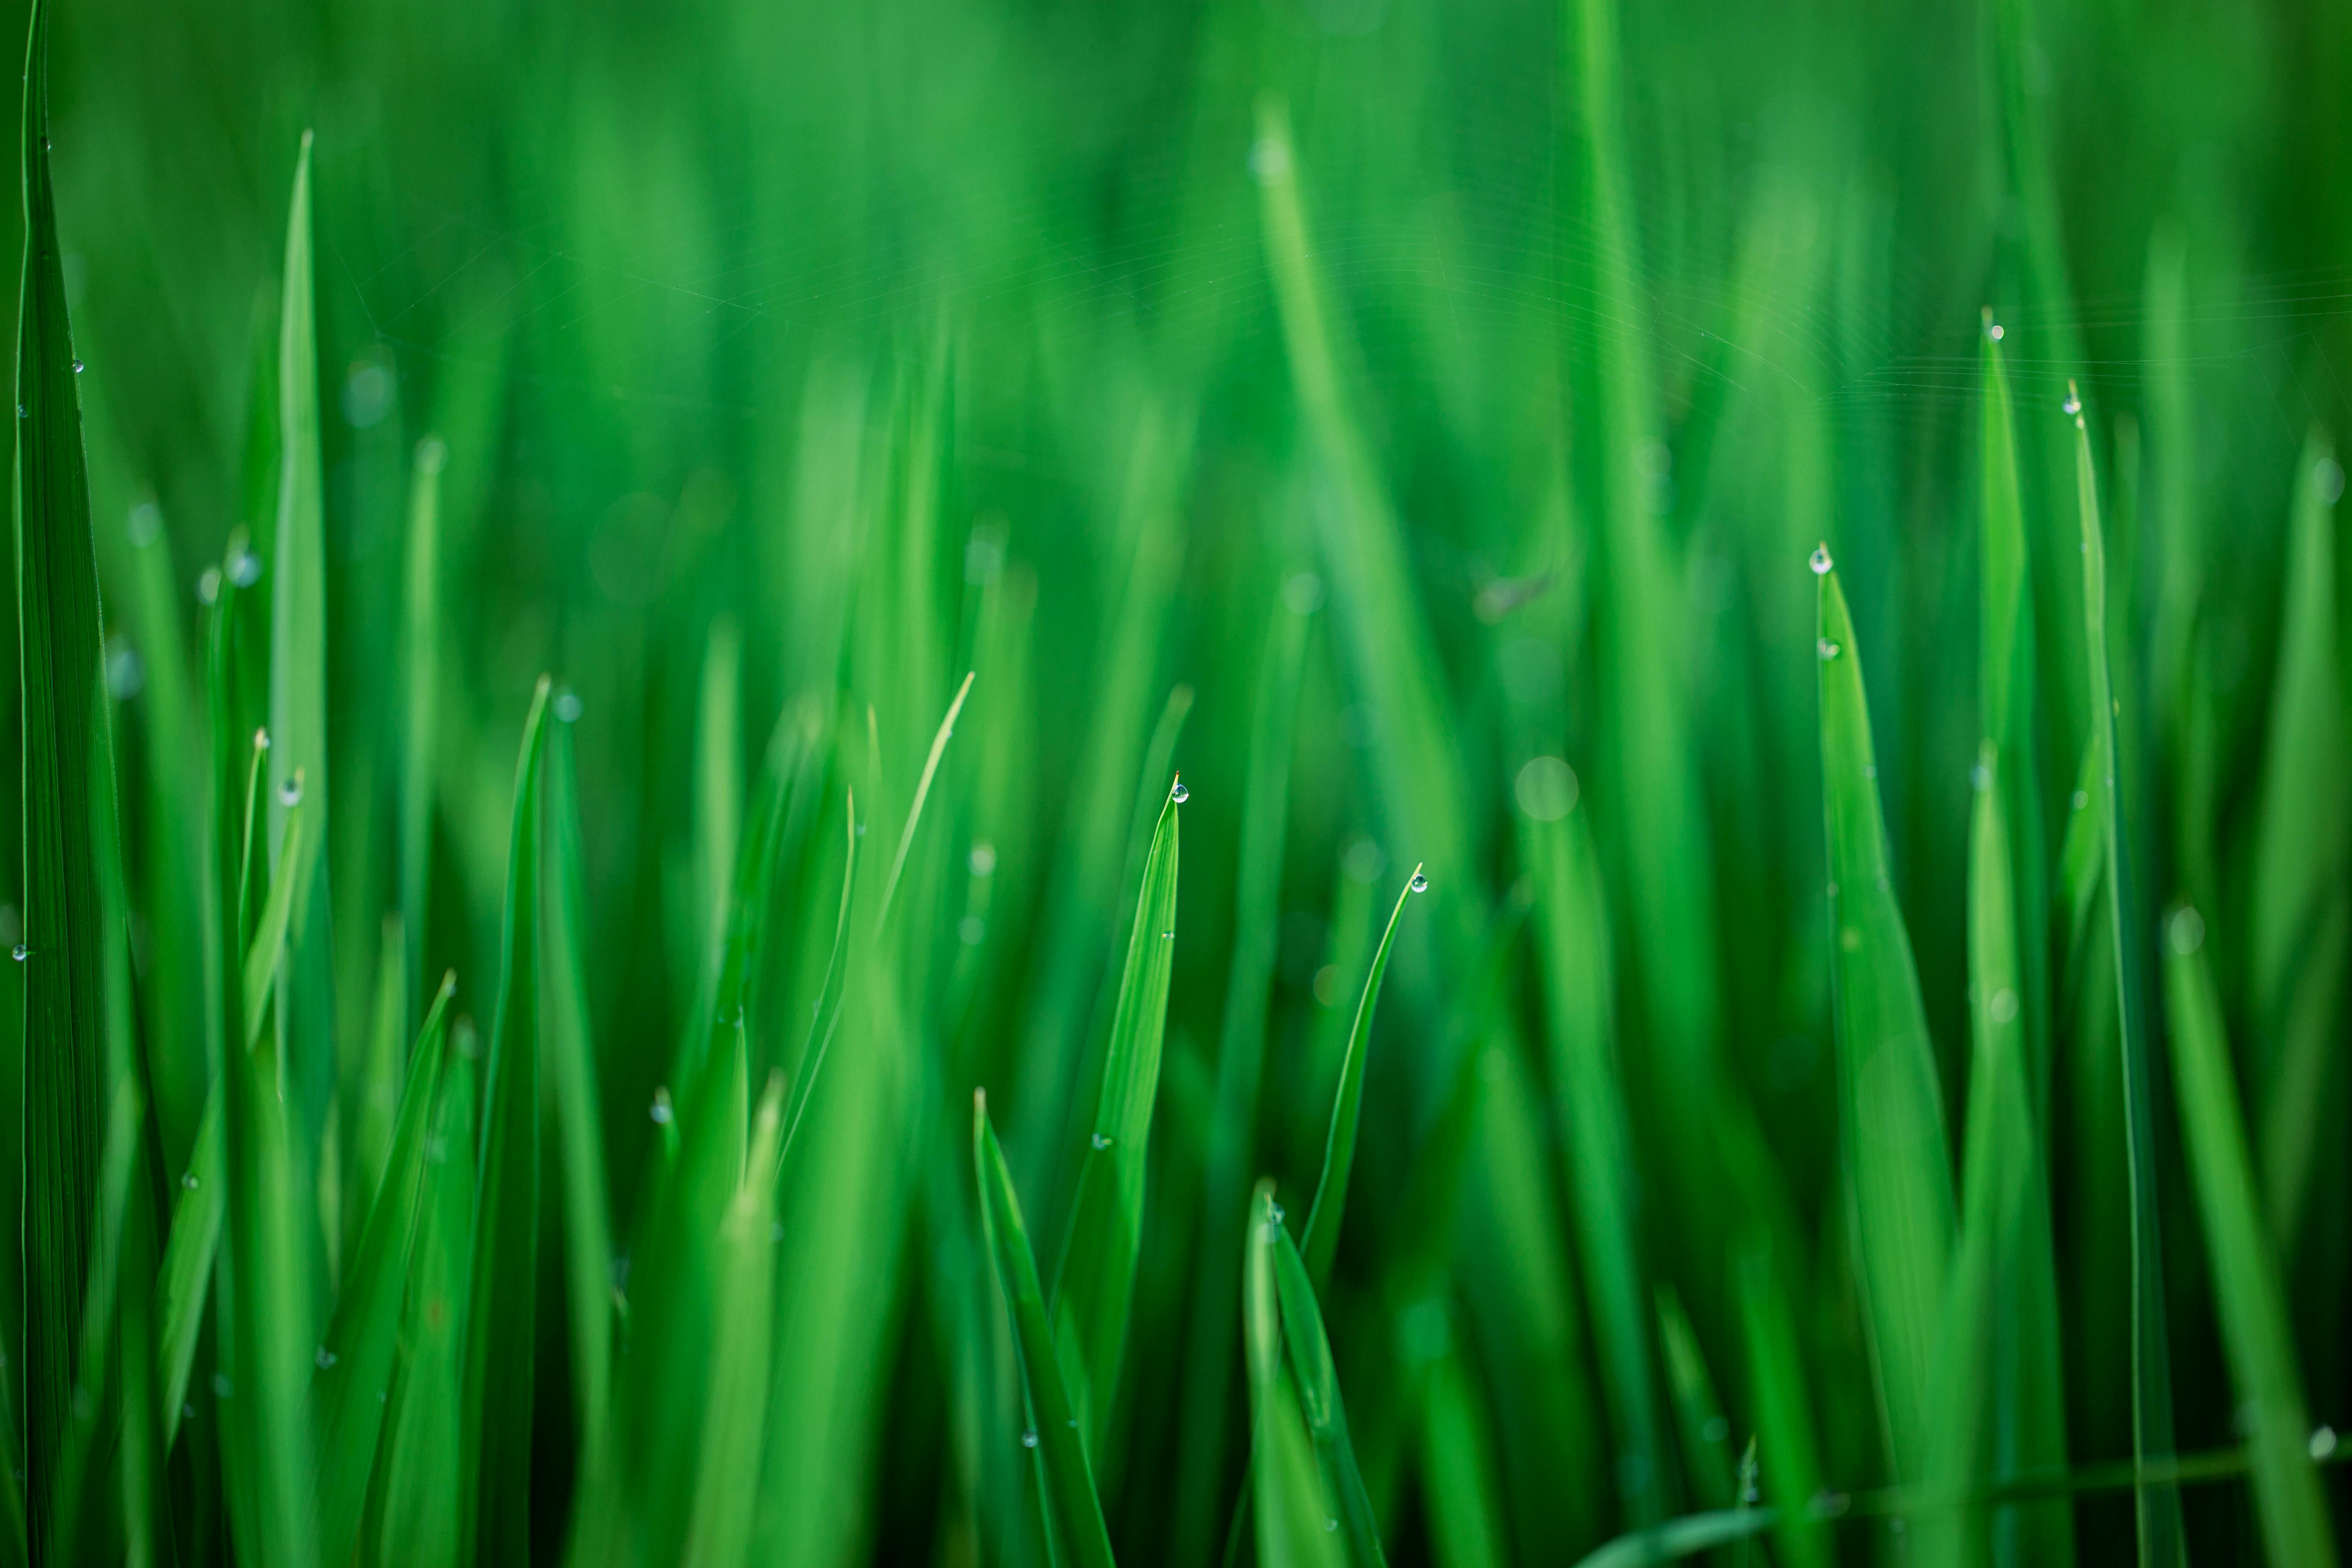
<path fill-rule="evenodd" d="M 1176 961 L 1176 818 L 1188 797 L 1183 778 L 1176 778 L 1152 830 L 1136 922 L 1127 936 L 1120 1004 L 1103 1051 L 1103 1095 L 1070 1204 L 1061 1265 L 1054 1269 L 1054 1347 L 1089 1455 L 1101 1448 L 1110 1425 L 1136 1291 L 1136 1255 L 1143 1248 L 1143 1175 L 1152 1105 L 1160 1098 L 1169 971 Z"/>

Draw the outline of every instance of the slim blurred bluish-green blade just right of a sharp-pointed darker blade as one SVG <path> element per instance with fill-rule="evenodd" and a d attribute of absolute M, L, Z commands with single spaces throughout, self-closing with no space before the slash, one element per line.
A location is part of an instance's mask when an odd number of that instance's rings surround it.
<path fill-rule="evenodd" d="M 567 701 L 569 698 L 569 701 Z M 612 1406 L 612 1199 L 604 1180 L 604 1112 L 597 1105 L 588 1023 L 588 872 L 581 839 L 572 726 L 579 698 L 555 698 L 548 736 L 546 827 L 546 1048 L 555 1079 L 555 1128 L 564 1173 L 564 1286 L 572 1307 L 572 1387 L 581 1450 L 597 1453 Z"/>

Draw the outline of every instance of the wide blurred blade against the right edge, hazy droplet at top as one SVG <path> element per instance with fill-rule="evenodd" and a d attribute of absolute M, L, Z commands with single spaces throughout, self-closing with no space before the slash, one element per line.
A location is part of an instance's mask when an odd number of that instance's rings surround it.
<path fill-rule="evenodd" d="M 2343 484 L 2326 437 L 2303 444 L 2286 529 L 2286 604 L 2270 698 L 2263 797 L 2249 889 L 2249 983 L 2260 1041 L 2249 1084 L 2258 1107 L 2270 1232 L 2293 1255 L 2319 1152 L 2338 1027 L 2347 933 L 2345 691 L 2336 618 L 2336 508 Z"/>

